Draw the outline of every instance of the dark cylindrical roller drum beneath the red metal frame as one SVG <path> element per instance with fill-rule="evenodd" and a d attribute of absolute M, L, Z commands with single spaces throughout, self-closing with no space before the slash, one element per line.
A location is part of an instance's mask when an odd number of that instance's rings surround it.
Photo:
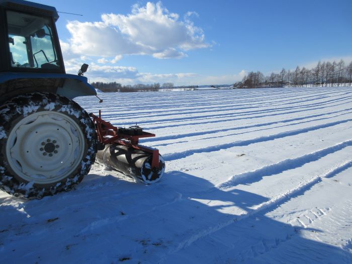
<path fill-rule="evenodd" d="M 156 156 L 158 162 L 154 167 L 152 167 L 153 158 L 153 153 L 120 144 L 107 144 L 96 155 L 96 161 L 99 163 L 145 184 L 159 181 L 165 170 L 165 162 L 161 155 Z"/>

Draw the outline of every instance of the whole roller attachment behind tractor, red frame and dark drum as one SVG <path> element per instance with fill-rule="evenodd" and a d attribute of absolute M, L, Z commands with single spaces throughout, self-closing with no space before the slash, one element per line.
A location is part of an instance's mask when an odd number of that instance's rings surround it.
<path fill-rule="evenodd" d="M 165 171 L 165 161 L 159 150 L 138 144 L 140 138 L 155 137 L 139 126 L 115 127 L 99 116 L 90 114 L 98 135 L 96 161 L 120 171 L 145 184 L 160 180 Z"/>

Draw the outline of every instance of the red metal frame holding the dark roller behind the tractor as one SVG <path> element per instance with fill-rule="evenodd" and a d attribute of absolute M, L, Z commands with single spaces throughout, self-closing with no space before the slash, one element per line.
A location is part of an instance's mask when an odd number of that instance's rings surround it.
<path fill-rule="evenodd" d="M 90 114 L 93 118 L 93 123 L 96 126 L 96 131 L 98 135 L 98 140 L 106 144 L 120 144 L 129 146 L 134 149 L 142 150 L 147 153 L 151 153 L 151 168 L 159 168 L 159 150 L 156 148 L 151 148 L 143 145 L 139 145 L 139 139 L 144 137 L 155 137 L 155 134 L 143 131 L 141 135 L 126 135 L 119 132 L 119 128 L 113 126 L 110 122 L 104 121 L 102 119 L 102 111 L 99 110 L 99 116 L 97 117 L 93 113 Z"/>

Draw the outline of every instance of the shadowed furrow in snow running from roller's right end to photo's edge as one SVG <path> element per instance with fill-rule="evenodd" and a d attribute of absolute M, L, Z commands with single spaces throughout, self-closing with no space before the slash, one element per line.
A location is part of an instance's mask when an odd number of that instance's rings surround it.
<path fill-rule="evenodd" d="M 279 139 L 279 138 L 295 136 L 298 134 L 307 133 L 307 132 L 322 129 L 322 128 L 328 128 L 328 127 L 344 124 L 344 123 L 347 123 L 350 121 L 352 121 L 352 119 L 340 120 L 340 121 L 330 122 L 330 123 L 326 123 L 326 124 L 322 124 L 322 125 L 296 129 L 296 130 L 292 130 L 292 131 L 288 131 L 288 132 L 281 132 L 281 133 L 269 135 L 269 136 L 261 136 L 261 137 L 257 137 L 257 138 L 253 138 L 253 139 L 235 141 L 232 143 L 219 144 L 216 146 L 185 150 L 185 151 L 181 151 L 181 152 L 167 153 L 167 154 L 163 154 L 163 157 L 164 157 L 165 161 L 171 161 L 171 160 L 176 160 L 176 159 L 180 159 L 180 158 L 185 158 L 185 157 L 191 156 L 195 153 L 213 152 L 213 151 L 218 151 L 221 149 L 227 149 L 227 148 L 231 148 L 231 147 L 248 146 L 248 145 L 254 144 L 254 143 L 266 142 L 266 141 L 271 141 L 271 140 L 275 140 L 275 139 Z"/>

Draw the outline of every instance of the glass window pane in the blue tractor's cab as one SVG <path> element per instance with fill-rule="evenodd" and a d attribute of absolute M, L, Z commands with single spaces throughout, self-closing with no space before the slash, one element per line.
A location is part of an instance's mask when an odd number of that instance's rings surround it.
<path fill-rule="evenodd" d="M 49 18 L 8 11 L 7 23 L 12 67 L 59 69 Z"/>

